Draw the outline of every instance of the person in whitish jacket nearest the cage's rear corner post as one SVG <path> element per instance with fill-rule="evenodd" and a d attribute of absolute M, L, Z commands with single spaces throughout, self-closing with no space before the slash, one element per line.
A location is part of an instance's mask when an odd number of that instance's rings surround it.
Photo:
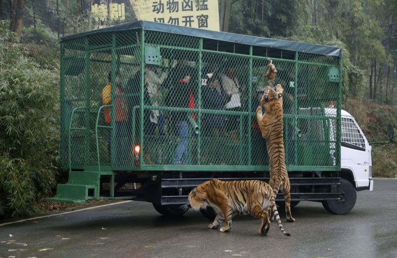
<path fill-rule="evenodd" d="M 167 78 L 167 73 L 165 72 L 162 72 L 161 75 L 158 76 L 156 73 L 156 68 L 157 67 L 154 65 L 146 65 L 145 68 L 145 86 L 152 106 L 159 105 L 158 102 L 159 98 L 161 97 L 159 87 Z M 158 125 L 159 133 L 161 135 L 164 133 L 164 115 L 160 110 L 151 110 L 150 122 Z M 152 128 L 153 129 L 151 130 L 151 133 L 153 134 L 155 127 L 153 126 Z"/>

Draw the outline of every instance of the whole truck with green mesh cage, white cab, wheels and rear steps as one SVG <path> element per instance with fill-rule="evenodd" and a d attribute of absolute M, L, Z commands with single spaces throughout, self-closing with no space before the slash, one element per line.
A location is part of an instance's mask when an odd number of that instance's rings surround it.
<path fill-rule="evenodd" d="M 68 181 L 48 200 L 138 200 L 178 216 L 208 179 L 267 181 L 255 111 L 270 60 L 284 88 L 291 205 L 349 212 L 373 181 L 371 146 L 340 108 L 340 48 L 148 21 L 62 38 Z M 282 194 L 276 200 L 284 205 Z"/>

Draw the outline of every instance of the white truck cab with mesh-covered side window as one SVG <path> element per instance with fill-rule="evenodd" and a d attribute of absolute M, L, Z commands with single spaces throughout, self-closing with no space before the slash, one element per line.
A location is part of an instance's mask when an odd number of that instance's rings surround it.
<path fill-rule="evenodd" d="M 354 176 L 357 190 L 373 190 L 371 146 L 354 117 L 341 110 L 341 170 Z"/>

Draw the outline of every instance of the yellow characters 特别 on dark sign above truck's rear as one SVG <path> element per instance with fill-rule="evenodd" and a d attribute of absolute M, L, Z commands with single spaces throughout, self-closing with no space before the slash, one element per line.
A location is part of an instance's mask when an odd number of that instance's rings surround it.
<path fill-rule="evenodd" d="M 103 0 L 96 2 L 98 3 L 91 5 L 91 17 L 98 22 L 99 28 L 105 27 L 108 20 L 124 21 L 126 19 L 124 2 L 113 1 L 107 3 Z"/>

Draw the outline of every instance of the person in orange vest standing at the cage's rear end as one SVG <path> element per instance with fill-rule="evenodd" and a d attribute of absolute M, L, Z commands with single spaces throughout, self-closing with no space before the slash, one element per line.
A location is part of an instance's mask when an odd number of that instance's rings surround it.
<path fill-rule="evenodd" d="M 114 99 L 115 103 L 112 107 L 105 107 L 103 112 L 105 116 L 105 122 L 107 124 L 111 123 L 112 120 L 112 110 L 115 110 L 115 122 L 114 122 L 114 137 L 116 139 L 116 144 L 115 148 L 120 150 L 118 151 L 118 161 L 121 163 L 125 163 L 128 160 L 128 150 L 127 150 L 127 144 L 129 141 L 128 139 L 123 139 L 126 138 L 126 127 L 127 127 L 127 118 L 128 118 L 128 107 L 127 107 L 127 101 L 124 97 L 124 93 L 120 89 L 119 85 L 119 75 L 120 72 L 116 71 L 115 72 L 115 83 L 116 86 L 114 87 Z M 110 105 L 112 104 L 112 72 L 110 71 L 108 74 L 108 84 L 102 88 L 101 91 L 101 96 L 102 96 L 102 104 L 103 105 Z M 110 146 L 111 146 L 111 133 L 112 130 L 109 130 L 109 137 L 108 137 L 108 150 L 110 153 Z"/>

